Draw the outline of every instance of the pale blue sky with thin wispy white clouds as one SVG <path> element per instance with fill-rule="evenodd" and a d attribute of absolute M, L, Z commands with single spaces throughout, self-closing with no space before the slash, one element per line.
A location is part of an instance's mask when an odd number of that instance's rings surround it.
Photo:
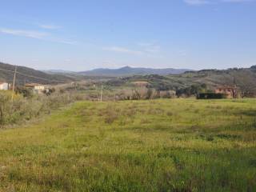
<path fill-rule="evenodd" d="M 0 0 L 0 61 L 38 70 L 256 65 L 256 0 Z"/>

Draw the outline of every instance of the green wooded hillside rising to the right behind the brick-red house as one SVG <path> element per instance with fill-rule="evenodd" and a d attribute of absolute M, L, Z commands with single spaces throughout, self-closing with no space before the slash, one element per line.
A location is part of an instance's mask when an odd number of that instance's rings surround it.
<path fill-rule="evenodd" d="M 248 94 L 256 93 L 256 66 L 228 70 L 199 70 L 183 74 L 134 75 L 115 78 L 107 82 L 109 86 L 130 86 L 133 82 L 149 82 L 148 87 L 156 90 L 190 91 L 191 86 L 204 86 L 213 90 L 216 86 L 237 86 Z"/>

